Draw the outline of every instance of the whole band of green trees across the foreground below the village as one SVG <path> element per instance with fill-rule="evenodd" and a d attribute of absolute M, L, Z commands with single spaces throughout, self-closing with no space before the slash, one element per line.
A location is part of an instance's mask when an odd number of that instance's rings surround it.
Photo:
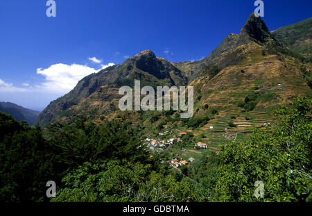
<path fill-rule="evenodd" d="M 53 179 L 51 201 L 312 201 L 311 99 L 276 115 L 278 124 L 222 144 L 219 155 L 201 150 L 178 171 L 159 163 L 162 154 L 150 159 L 130 123 L 95 126 L 80 117 L 42 131 L 0 113 L 0 200 L 49 201 Z M 184 144 L 193 139 L 188 133 Z"/>

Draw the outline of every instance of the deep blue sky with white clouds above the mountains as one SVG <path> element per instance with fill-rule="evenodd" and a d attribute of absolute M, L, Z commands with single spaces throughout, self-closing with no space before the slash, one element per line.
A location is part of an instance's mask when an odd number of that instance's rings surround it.
<path fill-rule="evenodd" d="M 311 0 L 264 1 L 270 30 L 311 17 Z M 83 76 L 151 49 L 169 61 L 208 56 L 239 33 L 253 0 L 0 2 L 0 101 L 42 110 Z"/>

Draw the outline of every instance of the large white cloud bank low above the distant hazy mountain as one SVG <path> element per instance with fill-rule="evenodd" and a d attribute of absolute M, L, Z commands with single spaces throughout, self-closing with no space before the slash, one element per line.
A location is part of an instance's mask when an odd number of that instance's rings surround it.
<path fill-rule="evenodd" d="M 42 110 L 50 101 L 73 90 L 78 81 L 85 76 L 113 65 L 114 63 L 101 64 L 100 68 L 95 69 L 87 65 L 55 64 L 37 69 L 37 74 L 44 76 L 44 81 L 35 84 L 26 81 L 19 87 L 0 79 L 0 98 L 3 101 Z"/>

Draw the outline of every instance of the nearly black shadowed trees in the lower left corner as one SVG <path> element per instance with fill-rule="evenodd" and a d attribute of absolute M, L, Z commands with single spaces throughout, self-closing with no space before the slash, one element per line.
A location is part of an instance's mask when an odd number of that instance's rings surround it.
<path fill-rule="evenodd" d="M 1 201 L 42 201 L 39 193 L 45 191 L 46 181 L 62 172 L 39 127 L 18 123 L 1 112 L 0 164 Z"/>

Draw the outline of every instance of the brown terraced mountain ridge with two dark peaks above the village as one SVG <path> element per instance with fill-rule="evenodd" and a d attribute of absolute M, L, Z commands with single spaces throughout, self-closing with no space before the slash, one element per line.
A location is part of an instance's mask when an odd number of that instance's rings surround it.
<path fill-rule="evenodd" d="M 83 78 L 69 94 L 51 102 L 38 121 L 44 126 L 85 114 L 88 121 L 96 124 L 104 119 L 126 119 L 148 131 L 159 124 L 179 126 L 181 119 L 173 113 L 155 117 L 150 124 L 146 121 L 149 113 L 121 112 L 118 90 L 122 85 L 132 86 L 135 79 L 141 81 L 141 86 L 153 87 L 187 83 L 195 90 L 194 119 L 210 119 L 206 125 L 189 131 L 205 134 L 206 140 L 202 141 L 212 144 L 220 141 L 224 128 L 243 139 L 253 128 L 274 122 L 272 114 L 277 106 L 301 95 L 311 97 L 302 68 L 311 73 L 311 63 L 289 55 L 287 47 L 274 38 L 261 17 L 252 14 L 238 35 L 228 35 L 206 58 L 192 63 L 168 63 L 152 51 L 143 51 L 121 65 Z M 229 122 L 236 127 L 230 127 Z"/>

